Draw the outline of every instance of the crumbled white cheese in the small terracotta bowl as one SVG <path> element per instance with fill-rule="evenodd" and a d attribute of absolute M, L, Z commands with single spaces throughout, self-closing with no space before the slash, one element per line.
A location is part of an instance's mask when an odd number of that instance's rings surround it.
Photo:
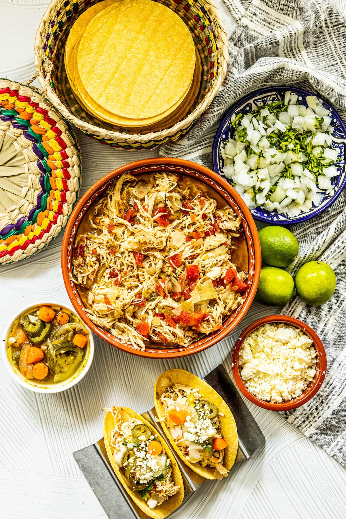
<path fill-rule="evenodd" d="M 249 334 L 239 352 L 241 378 L 255 397 L 286 402 L 299 397 L 316 373 L 316 350 L 294 326 L 268 323 Z"/>

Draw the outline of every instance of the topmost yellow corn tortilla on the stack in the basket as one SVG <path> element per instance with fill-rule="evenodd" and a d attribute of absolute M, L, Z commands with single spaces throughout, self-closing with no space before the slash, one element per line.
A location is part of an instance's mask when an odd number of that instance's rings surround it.
<path fill-rule="evenodd" d="M 103 9 L 87 26 L 77 53 L 90 97 L 129 119 L 172 108 L 189 90 L 195 61 L 185 23 L 152 0 L 122 0 Z"/>

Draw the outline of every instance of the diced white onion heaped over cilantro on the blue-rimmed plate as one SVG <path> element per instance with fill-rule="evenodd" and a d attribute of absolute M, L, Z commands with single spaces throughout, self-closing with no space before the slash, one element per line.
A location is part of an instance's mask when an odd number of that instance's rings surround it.
<path fill-rule="evenodd" d="M 283 109 L 275 115 L 267 107 L 262 107 L 256 115 L 246 114 L 240 121 L 240 127 L 246 128 L 246 140 L 238 141 L 236 130 L 236 139 L 229 139 L 221 149 L 225 164 L 223 174 L 231 179 L 234 189 L 250 209 L 262 206 L 268 211 L 276 210 L 294 218 L 318 206 L 325 194 L 333 189 L 330 179 L 339 175 L 333 165 L 339 150 L 333 146 L 332 118 L 315 95 L 308 95 L 306 102 L 308 107 L 299 104 L 297 94 L 287 91 L 284 99 L 287 111 Z M 232 120 L 234 118 L 232 116 Z M 273 135 L 280 139 L 280 132 L 290 128 L 298 133 L 309 132 L 305 134 L 305 142 L 309 145 L 306 154 L 301 151 L 301 146 L 300 150 L 296 147 L 297 143 L 271 144 L 275 142 Z M 311 155 L 317 165 L 322 166 L 322 173 L 317 178 L 313 174 L 315 169 L 309 165 Z M 270 194 L 272 186 L 275 189 Z M 178 240 L 178 235 L 173 235 L 172 238 L 179 247 L 181 237 Z M 212 284 L 211 280 L 219 275 L 218 268 L 215 268 L 206 277 Z M 191 446 L 192 452 L 193 448 Z"/>

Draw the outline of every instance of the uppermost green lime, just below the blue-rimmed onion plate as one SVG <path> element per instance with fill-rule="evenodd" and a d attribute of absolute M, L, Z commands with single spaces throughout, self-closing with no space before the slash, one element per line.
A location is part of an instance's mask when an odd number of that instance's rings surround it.
<path fill-rule="evenodd" d="M 263 260 L 273 267 L 288 267 L 298 256 L 295 236 L 279 225 L 268 225 L 258 231 Z"/>

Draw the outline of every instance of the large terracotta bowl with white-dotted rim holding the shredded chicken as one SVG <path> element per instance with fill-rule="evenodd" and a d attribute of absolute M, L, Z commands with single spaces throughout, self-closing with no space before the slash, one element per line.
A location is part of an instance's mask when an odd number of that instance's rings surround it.
<path fill-rule="evenodd" d="M 229 206 L 231 206 L 238 215 L 242 215 L 243 230 L 248 249 L 248 281 L 250 286 L 247 291 L 244 292 L 244 304 L 238 307 L 232 313 L 232 315 L 230 315 L 225 320 L 222 330 L 214 332 L 211 335 L 201 337 L 187 348 L 177 347 L 158 349 L 149 345 L 145 350 L 140 350 L 133 348 L 129 344 L 123 344 L 114 335 L 110 334 L 102 327 L 95 325 L 89 319 L 87 313 L 85 312 L 85 307 L 77 292 L 76 285 L 70 278 L 70 274 L 72 274 L 72 252 L 78 226 L 86 211 L 96 200 L 96 198 L 102 195 L 107 187 L 112 184 L 118 176 L 124 173 L 131 175 L 141 175 L 143 173 L 157 173 L 158 171 L 170 171 L 189 176 L 192 179 L 197 179 L 198 181 L 214 189 L 220 196 L 225 199 L 227 204 L 229 204 Z M 71 303 L 73 304 L 82 321 L 84 321 L 93 332 L 99 335 L 99 337 L 101 337 L 107 343 L 123 351 L 127 351 L 135 355 L 140 355 L 142 357 L 170 359 L 173 357 L 183 357 L 185 355 L 197 353 L 199 351 L 205 350 L 206 348 L 209 348 L 213 344 L 219 342 L 219 340 L 226 337 L 226 335 L 228 335 L 229 332 L 240 323 L 247 310 L 250 308 L 257 290 L 261 268 L 261 252 L 258 233 L 253 217 L 245 206 L 245 203 L 241 199 L 240 195 L 238 195 L 238 193 L 229 185 L 226 180 L 222 179 L 222 177 L 213 171 L 187 160 L 173 158 L 154 158 L 138 160 L 131 162 L 126 166 L 117 168 L 116 170 L 111 171 L 102 177 L 102 179 L 98 180 L 98 182 L 96 182 L 90 189 L 88 189 L 86 194 L 82 196 L 77 203 L 72 215 L 70 216 L 70 220 L 68 220 L 62 243 L 61 264 L 64 283 L 67 294 L 71 299 Z"/>

